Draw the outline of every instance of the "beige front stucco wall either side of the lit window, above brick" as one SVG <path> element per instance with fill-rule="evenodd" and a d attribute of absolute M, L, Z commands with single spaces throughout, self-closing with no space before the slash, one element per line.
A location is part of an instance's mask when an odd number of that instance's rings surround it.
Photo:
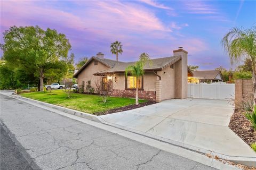
<path fill-rule="evenodd" d="M 115 82 L 115 77 L 117 77 L 117 82 Z M 143 89 L 145 91 L 155 91 L 156 90 L 156 80 L 157 80 L 157 76 L 153 72 L 145 72 L 145 75 L 143 77 Z M 124 73 L 114 74 L 113 89 L 116 89 L 116 90 L 124 90 L 125 89 Z"/>

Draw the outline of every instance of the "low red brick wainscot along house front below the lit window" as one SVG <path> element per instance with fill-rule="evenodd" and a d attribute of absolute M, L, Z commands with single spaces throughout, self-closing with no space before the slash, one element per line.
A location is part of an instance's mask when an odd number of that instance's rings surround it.
<path fill-rule="evenodd" d="M 136 92 L 136 90 L 113 89 L 111 96 L 135 98 L 135 92 Z M 156 101 L 156 92 L 155 91 L 139 90 L 138 95 L 139 95 L 139 99 L 147 99 L 147 100 L 151 100 L 151 101 Z"/>

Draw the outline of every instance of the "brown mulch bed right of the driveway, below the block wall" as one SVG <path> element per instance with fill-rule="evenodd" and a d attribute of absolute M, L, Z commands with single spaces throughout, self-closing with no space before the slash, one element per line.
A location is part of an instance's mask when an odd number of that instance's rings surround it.
<path fill-rule="evenodd" d="M 242 112 L 235 111 L 228 126 L 249 146 L 251 143 L 256 142 L 256 132 Z"/>

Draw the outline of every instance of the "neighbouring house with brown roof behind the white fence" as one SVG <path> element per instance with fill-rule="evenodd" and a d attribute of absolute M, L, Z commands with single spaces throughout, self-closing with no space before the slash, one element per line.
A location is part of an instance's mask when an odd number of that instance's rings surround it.
<path fill-rule="evenodd" d="M 222 74 L 219 70 L 193 71 L 193 75 L 200 82 L 223 82 Z"/>

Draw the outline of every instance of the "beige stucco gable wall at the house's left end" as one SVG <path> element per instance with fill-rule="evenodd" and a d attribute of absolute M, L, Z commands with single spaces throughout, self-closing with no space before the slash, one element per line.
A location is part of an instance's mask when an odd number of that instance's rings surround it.
<path fill-rule="evenodd" d="M 86 86 L 87 81 L 91 80 L 91 85 L 95 89 L 95 81 L 97 81 L 97 79 L 99 79 L 100 77 L 93 75 L 93 73 L 96 73 L 96 72 L 99 72 L 102 70 L 106 70 L 106 69 L 108 69 L 108 67 L 106 65 L 103 65 L 100 62 L 98 62 L 98 65 L 94 65 L 94 60 L 92 60 L 85 67 L 85 69 L 81 73 L 78 74 L 78 77 L 77 77 L 78 87 L 82 86 L 83 81 Z M 86 89 L 84 88 L 84 90 L 86 90 Z"/>

